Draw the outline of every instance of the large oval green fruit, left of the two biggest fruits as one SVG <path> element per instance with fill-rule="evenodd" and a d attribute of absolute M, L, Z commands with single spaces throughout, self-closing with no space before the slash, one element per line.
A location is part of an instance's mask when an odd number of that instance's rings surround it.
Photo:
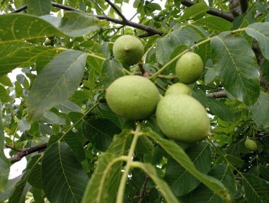
<path fill-rule="evenodd" d="M 108 87 L 105 98 L 110 109 L 127 120 L 146 119 L 160 99 L 155 84 L 138 75 L 116 79 Z"/>

